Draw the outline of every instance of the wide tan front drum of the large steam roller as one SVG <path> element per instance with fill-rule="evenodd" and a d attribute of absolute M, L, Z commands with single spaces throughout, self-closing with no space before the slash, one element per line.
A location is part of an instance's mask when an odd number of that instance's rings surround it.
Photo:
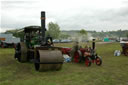
<path fill-rule="evenodd" d="M 36 71 L 60 70 L 64 58 L 59 50 L 38 50 L 35 56 Z"/>

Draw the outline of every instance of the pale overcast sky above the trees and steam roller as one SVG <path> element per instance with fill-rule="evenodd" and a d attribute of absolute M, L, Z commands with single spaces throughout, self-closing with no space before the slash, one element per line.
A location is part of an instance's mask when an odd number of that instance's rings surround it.
<path fill-rule="evenodd" d="M 40 12 L 60 30 L 128 30 L 127 0 L 1 0 L 0 32 L 41 25 Z"/>

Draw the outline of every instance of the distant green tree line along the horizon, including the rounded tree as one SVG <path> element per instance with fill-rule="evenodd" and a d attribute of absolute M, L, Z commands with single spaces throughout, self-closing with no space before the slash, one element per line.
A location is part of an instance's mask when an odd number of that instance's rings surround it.
<path fill-rule="evenodd" d="M 18 31 L 19 29 L 8 30 L 5 33 L 12 33 L 15 37 L 23 38 L 24 33 Z M 71 30 L 71 31 L 61 31 L 60 26 L 57 23 L 49 22 L 46 31 L 46 36 L 50 35 L 51 37 L 53 37 L 53 39 L 67 39 L 69 37 L 73 37 L 74 35 L 85 38 L 87 37 L 88 34 L 91 34 L 92 37 L 99 39 L 103 39 L 104 37 L 118 38 L 118 37 L 128 37 L 128 30 L 96 32 L 96 31 L 86 31 L 85 29 L 80 29 L 80 30 Z"/>

